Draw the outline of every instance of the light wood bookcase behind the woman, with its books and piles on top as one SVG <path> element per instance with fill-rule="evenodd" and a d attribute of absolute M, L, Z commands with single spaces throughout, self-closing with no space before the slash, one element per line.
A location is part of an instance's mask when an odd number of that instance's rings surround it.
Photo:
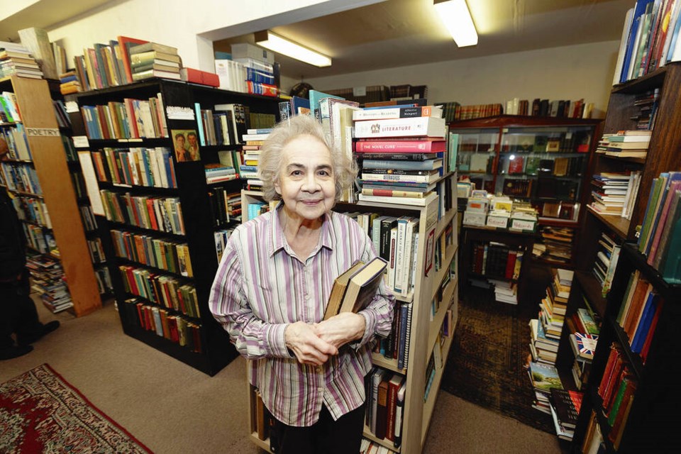
<path fill-rule="evenodd" d="M 310 114 L 319 111 L 332 143 L 355 153 L 360 189 L 343 194 L 334 211 L 365 230 L 387 262 L 384 279 L 397 300 L 393 330 L 372 352 L 362 452 L 379 447 L 421 451 L 458 320 L 456 172 L 449 162 L 441 109 L 419 103 L 423 100 L 360 109 L 356 102 L 311 92 L 304 108 Z M 400 118 L 405 109 L 418 115 Z M 398 123 L 411 132 L 399 137 L 394 132 Z M 370 124 L 386 130 L 377 133 Z M 348 125 L 354 126 L 355 140 L 348 140 Z M 258 181 L 253 183 L 257 188 Z M 258 192 L 242 194 L 248 211 L 244 220 L 271 208 Z M 249 392 L 253 441 L 270 450 L 267 411 L 260 409 L 257 390 L 249 386 Z"/>

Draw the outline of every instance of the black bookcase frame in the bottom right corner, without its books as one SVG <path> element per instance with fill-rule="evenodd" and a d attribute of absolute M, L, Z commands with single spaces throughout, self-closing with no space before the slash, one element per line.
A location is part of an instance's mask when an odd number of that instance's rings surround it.
<path fill-rule="evenodd" d="M 657 326 L 654 331 L 650 331 L 652 335 L 645 361 L 641 354 L 635 353 L 629 336 L 621 323 L 618 323 L 621 306 L 626 304 L 627 285 L 634 272 L 639 272 L 659 294 L 659 301 L 664 301 Z M 681 404 L 672 371 L 681 353 L 681 343 L 677 336 L 680 294 L 679 286 L 667 284 L 646 263 L 646 258 L 638 252 L 635 243 L 624 244 L 614 285 L 607 298 L 604 321 L 575 429 L 573 452 L 580 452 L 585 438 L 589 438 L 592 411 L 604 438 L 605 452 L 641 453 L 650 450 L 653 445 L 677 446 L 680 443 L 678 431 L 671 430 L 670 427 L 672 415 L 676 414 Z M 619 423 L 608 422 L 606 410 L 611 404 L 604 403 L 602 393 L 599 393 L 602 380 L 607 380 L 604 376 L 612 343 L 621 346 L 621 355 L 628 364 L 629 374 L 637 383 L 628 417 Z M 623 413 L 621 417 L 625 415 Z"/>

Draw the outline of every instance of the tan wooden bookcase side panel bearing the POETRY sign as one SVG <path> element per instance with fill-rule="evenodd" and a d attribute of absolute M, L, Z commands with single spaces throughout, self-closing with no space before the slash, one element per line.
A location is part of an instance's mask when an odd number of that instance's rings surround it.
<path fill-rule="evenodd" d="M 80 222 L 79 206 L 72 185 L 64 144 L 52 107 L 48 82 L 10 76 L 0 79 L 1 92 L 13 92 L 26 130 L 32 162 L 16 165 L 31 166 L 38 175 L 43 199 L 47 206 L 52 232 L 59 248 L 59 260 L 64 269 L 73 301 L 72 311 L 84 316 L 101 307 L 87 240 Z M 68 182 L 69 184 L 65 184 Z M 17 194 L 21 195 L 21 194 Z M 35 194 L 27 194 L 36 197 Z"/>

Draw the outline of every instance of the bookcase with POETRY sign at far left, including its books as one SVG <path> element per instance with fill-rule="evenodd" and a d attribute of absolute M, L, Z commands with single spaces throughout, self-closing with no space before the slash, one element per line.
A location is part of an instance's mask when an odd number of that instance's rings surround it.
<path fill-rule="evenodd" d="M 15 196 L 28 243 L 33 289 L 51 311 L 83 316 L 101 301 L 77 194 L 70 184 L 68 148 L 50 98 L 48 82 L 13 75 L 0 82 L 0 131 L 11 159 L 1 184 Z M 77 276 L 77 279 L 75 277 Z M 72 279 L 71 281 L 69 279 Z"/>

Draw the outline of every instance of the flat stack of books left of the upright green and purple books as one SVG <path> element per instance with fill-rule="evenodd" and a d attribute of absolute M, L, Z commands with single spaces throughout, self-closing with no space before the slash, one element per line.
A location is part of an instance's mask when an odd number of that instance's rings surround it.
<path fill-rule="evenodd" d="M 603 216 L 631 218 L 641 172 L 601 172 L 592 178 L 589 208 Z"/>

